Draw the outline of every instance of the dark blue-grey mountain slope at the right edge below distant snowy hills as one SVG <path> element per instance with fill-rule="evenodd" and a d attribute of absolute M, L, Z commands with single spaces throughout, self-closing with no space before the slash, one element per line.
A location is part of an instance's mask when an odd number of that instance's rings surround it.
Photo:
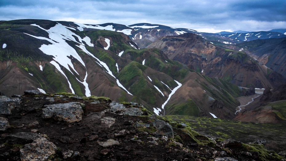
<path fill-rule="evenodd" d="M 286 77 L 286 38 L 258 39 L 236 44 L 251 57 Z"/>

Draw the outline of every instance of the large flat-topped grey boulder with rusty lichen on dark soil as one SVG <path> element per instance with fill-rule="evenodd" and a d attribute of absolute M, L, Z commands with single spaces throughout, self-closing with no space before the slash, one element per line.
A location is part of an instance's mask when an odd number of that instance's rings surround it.
<path fill-rule="evenodd" d="M 82 119 L 83 105 L 78 102 L 44 105 L 42 118 L 53 118 L 68 123 L 79 122 Z"/>

